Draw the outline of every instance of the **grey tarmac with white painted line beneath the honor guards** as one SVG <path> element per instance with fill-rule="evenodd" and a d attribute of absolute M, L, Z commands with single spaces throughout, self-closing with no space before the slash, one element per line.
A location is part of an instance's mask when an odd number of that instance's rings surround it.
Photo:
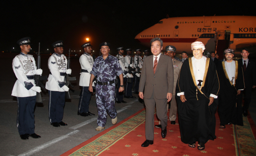
<path fill-rule="evenodd" d="M 95 116 L 81 117 L 77 115 L 78 101 L 80 94 L 79 72 L 80 64 L 78 58 L 71 59 L 71 76 L 76 76 L 76 81 L 72 82 L 74 88 L 70 90 L 71 100 L 66 101 L 63 121 L 68 126 L 53 127 L 48 118 L 48 92 L 42 90 L 43 107 L 35 109 L 35 133 L 42 138 L 21 140 L 16 125 L 17 101 L 11 96 L 16 77 L 12 70 L 12 59 L 18 53 L 0 54 L 0 66 L 2 74 L 0 76 L 0 156 L 58 156 L 80 143 L 97 135 L 97 107 L 95 96 L 92 96 L 89 110 Z M 35 55 L 34 55 L 35 57 Z M 41 68 L 43 76 L 49 75 L 48 55 L 42 55 Z M 44 82 L 45 84 L 45 82 Z M 133 96 L 138 96 L 133 94 Z M 136 99 L 124 99 L 127 103 L 116 103 L 118 111 L 118 122 L 126 119 L 130 115 L 144 108 L 144 104 Z M 42 105 L 41 105 L 42 106 Z M 253 90 L 252 101 L 249 107 L 250 115 L 256 123 L 256 91 Z M 218 126 L 219 123 L 216 123 Z M 112 126 L 110 117 L 106 123 L 106 129 Z M 169 125 L 170 126 L 170 125 Z M 168 135 L 168 134 L 167 134 Z"/>

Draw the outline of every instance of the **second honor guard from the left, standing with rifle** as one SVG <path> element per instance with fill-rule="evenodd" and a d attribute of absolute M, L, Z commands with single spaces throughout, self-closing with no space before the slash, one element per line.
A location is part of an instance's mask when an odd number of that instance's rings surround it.
<path fill-rule="evenodd" d="M 48 60 L 50 74 L 45 88 L 48 90 L 49 99 L 49 119 L 53 127 L 66 126 L 62 122 L 65 105 L 65 92 L 69 90 L 65 85 L 66 74 L 71 74 L 71 69 L 67 69 L 67 58 L 63 55 L 63 41 L 52 43 L 54 54 Z"/>

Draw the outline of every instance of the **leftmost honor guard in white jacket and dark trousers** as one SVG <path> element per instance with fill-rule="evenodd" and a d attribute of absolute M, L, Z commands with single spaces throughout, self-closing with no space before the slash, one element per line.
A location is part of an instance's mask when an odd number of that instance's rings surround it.
<path fill-rule="evenodd" d="M 24 37 L 17 41 L 21 52 L 12 61 L 12 69 L 18 80 L 16 80 L 12 96 L 17 97 L 18 114 L 17 127 L 20 138 L 23 140 L 41 138 L 35 130 L 34 108 L 36 104 L 36 92 L 41 92 L 34 82 L 34 74 L 42 75 L 42 69 L 36 69 L 36 61 L 30 52 L 30 37 Z"/>

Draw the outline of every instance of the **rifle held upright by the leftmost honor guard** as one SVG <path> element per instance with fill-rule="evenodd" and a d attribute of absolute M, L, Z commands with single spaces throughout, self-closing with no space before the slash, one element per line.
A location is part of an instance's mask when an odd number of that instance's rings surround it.
<path fill-rule="evenodd" d="M 36 54 L 37 54 L 36 69 L 40 69 L 40 65 L 41 65 L 40 43 L 39 43 L 38 53 Z M 34 80 L 35 80 L 36 86 L 45 88 L 45 86 L 42 84 L 42 80 L 47 80 L 47 76 L 35 75 Z M 36 103 L 43 103 L 41 93 L 36 92 Z"/>

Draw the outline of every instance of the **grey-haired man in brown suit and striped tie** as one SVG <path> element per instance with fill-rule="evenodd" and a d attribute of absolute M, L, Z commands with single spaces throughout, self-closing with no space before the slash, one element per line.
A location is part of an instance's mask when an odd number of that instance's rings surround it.
<path fill-rule="evenodd" d="M 163 41 L 156 37 L 150 41 L 153 55 L 146 57 L 140 76 L 139 96 L 144 99 L 146 105 L 146 141 L 141 145 L 147 147 L 154 140 L 154 111 L 161 121 L 162 138 L 165 138 L 167 130 L 167 102 L 172 99 L 174 75 L 172 58 L 161 54 Z M 145 90 L 144 90 L 145 88 Z M 143 94 L 144 90 L 144 94 Z"/>

